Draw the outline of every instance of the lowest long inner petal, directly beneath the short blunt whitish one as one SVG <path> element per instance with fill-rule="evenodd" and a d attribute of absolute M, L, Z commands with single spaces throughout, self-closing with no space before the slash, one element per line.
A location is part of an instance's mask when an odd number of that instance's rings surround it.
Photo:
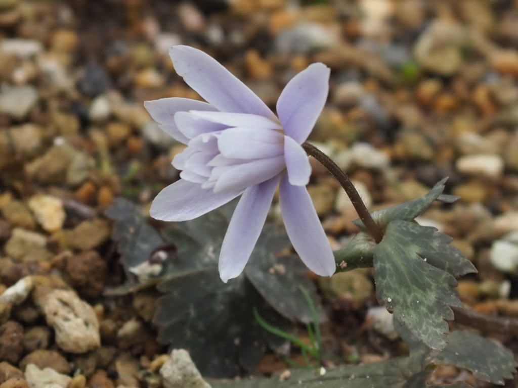
<path fill-rule="evenodd" d="M 235 166 L 214 167 L 209 181 L 215 181 L 214 192 L 244 190 L 265 182 L 284 170 L 284 157 L 253 160 Z"/>

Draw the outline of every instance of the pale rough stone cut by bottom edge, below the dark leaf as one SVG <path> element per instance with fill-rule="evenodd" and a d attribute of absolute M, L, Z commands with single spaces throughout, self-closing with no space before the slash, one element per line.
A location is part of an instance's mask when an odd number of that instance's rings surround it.
<path fill-rule="evenodd" d="M 171 357 L 160 368 L 164 388 L 210 388 L 210 385 L 200 375 L 189 352 L 184 349 L 174 349 Z"/>

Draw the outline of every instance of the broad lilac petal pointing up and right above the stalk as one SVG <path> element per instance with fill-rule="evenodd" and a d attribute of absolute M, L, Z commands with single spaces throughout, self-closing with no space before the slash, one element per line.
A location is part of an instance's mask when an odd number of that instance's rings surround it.
<path fill-rule="evenodd" d="M 324 108 L 329 74 L 329 68 L 322 63 L 308 66 L 288 82 L 277 101 L 284 132 L 299 144 L 306 141 Z"/>

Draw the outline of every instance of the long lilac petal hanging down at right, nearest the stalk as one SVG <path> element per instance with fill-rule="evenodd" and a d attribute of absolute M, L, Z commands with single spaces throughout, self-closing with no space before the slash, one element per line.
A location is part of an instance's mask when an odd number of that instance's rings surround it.
<path fill-rule="evenodd" d="M 333 251 L 305 187 L 293 186 L 286 175 L 279 191 L 282 218 L 293 247 L 304 264 L 320 276 L 335 273 Z"/>

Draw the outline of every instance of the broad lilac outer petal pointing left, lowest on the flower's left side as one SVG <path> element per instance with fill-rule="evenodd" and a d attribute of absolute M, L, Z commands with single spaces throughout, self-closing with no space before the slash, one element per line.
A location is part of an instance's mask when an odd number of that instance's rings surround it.
<path fill-rule="evenodd" d="M 155 197 L 149 214 L 163 221 L 187 221 L 232 201 L 241 191 L 214 193 L 184 180 L 167 186 Z"/>

